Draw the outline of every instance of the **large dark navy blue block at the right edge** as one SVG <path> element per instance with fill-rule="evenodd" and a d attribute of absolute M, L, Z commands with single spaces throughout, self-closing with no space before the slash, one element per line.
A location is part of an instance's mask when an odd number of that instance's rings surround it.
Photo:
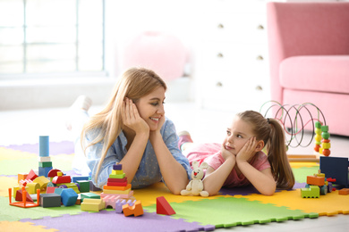
<path fill-rule="evenodd" d="M 336 178 L 336 185 L 349 187 L 348 158 L 320 156 L 319 169 L 327 178 Z"/>

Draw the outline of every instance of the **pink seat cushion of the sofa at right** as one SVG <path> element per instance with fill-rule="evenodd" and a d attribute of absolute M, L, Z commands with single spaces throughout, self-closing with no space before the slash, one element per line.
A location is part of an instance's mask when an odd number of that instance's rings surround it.
<path fill-rule="evenodd" d="M 302 55 L 280 64 L 282 87 L 349 94 L 349 55 Z"/>

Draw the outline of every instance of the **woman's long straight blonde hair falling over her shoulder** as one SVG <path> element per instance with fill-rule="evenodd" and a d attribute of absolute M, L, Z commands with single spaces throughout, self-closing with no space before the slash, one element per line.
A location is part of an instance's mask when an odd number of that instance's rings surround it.
<path fill-rule="evenodd" d="M 157 76 L 157 73 L 153 70 L 144 68 L 126 70 L 121 78 L 117 80 L 106 107 L 92 116 L 82 128 L 81 145 L 85 152 L 89 146 L 103 143 L 101 158 L 96 171 L 96 181 L 108 149 L 123 129 L 123 100 L 128 97 L 136 104 L 141 97 L 149 95 L 157 87 L 164 87 L 165 90 L 167 88 L 165 81 Z M 88 144 L 85 144 L 86 137 L 89 137 L 90 140 Z"/>

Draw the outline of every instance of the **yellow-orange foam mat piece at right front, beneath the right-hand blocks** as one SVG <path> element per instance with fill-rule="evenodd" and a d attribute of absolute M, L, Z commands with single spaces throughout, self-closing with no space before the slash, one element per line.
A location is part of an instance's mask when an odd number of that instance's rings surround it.
<path fill-rule="evenodd" d="M 349 214 L 349 196 L 338 195 L 338 191 L 320 195 L 319 198 L 302 198 L 301 189 L 283 190 L 272 196 L 253 194 L 234 195 L 234 197 L 243 197 L 261 203 L 273 203 L 276 206 L 285 206 L 290 210 L 301 210 L 307 213 L 317 212 L 319 216 L 333 216 L 338 213 Z"/>

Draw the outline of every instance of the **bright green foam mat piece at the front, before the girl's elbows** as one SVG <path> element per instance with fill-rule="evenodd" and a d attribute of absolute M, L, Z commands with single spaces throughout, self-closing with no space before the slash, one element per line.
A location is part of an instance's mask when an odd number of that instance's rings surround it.
<path fill-rule="evenodd" d="M 318 218 L 318 213 L 304 213 L 277 207 L 271 203 L 249 201 L 246 198 L 218 197 L 196 202 L 171 203 L 176 214 L 173 218 L 201 225 L 215 225 L 216 228 L 230 228 L 240 225 L 265 224 L 272 221 L 302 220 Z M 157 211 L 156 205 L 144 207 L 148 211 Z"/>

